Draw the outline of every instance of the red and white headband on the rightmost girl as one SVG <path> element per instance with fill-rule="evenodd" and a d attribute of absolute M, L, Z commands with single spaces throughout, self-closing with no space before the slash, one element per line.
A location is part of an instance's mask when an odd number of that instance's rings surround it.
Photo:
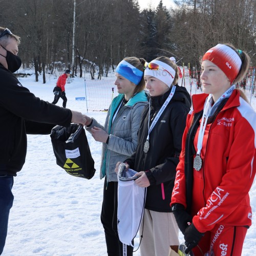
<path fill-rule="evenodd" d="M 227 76 L 231 84 L 233 83 L 234 79 L 237 78 L 242 66 L 242 60 L 239 57 L 238 52 L 226 45 L 221 44 L 210 48 L 204 54 L 202 61 L 204 60 L 209 60 L 217 65 Z"/>

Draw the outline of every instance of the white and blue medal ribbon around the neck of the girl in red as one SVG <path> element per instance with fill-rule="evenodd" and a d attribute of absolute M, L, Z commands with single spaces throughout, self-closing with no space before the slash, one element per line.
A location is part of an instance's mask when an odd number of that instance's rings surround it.
<path fill-rule="evenodd" d="M 201 154 L 201 150 L 202 150 L 202 146 L 203 146 L 204 132 L 205 132 L 205 127 L 207 124 L 208 117 L 214 113 L 214 111 L 217 109 L 218 105 L 221 103 L 221 101 L 223 99 L 230 97 L 234 88 L 235 88 L 235 86 L 233 84 L 224 94 L 222 94 L 222 96 L 212 106 L 209 105 L 209 103 L 213 102 L 212 94 L 209 94 L 209 96 L 207 97 L 206 102 L 204 104 L 204 112 L 203 112 L 200 129 L 199 129 L 199 134 L 198 134 L 197 156 L 200 156 L 200 154 Z"/>

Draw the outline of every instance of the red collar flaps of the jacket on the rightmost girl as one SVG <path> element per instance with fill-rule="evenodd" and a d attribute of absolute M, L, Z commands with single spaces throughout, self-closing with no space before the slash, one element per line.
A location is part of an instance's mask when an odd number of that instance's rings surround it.
<path fill-rule="evenodd" d="M 204 108 L 204 102 L 209 94 L 194 94 L 192 95 L 192 104 L 193 104 L 193 110 L 195 113 L 200 112 Z M 227 110 L 229 108 L 234 108 L 237 106 L 240 106 L 240 92 L 239 90 L 233 90 L 232 94 L 230 95 L 229 99 L 227 100 L 227 103 L 224 105 L 222 110 Z"/>

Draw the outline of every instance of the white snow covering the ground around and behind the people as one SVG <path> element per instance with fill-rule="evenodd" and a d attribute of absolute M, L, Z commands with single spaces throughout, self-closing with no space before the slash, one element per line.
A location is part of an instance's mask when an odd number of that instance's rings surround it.
<path fill-rule="evenodd" d="M 26 71 L 27 73 L 27 71 Z M 47 83 L 35 82 L 35 76 L 19 78 L 20 83 L 37 97 L 53 101 L 53 88 L 57 76 L 48 75 Z M 114 73 L 109 79 L 114 86 Z M 186 87 L 190 92 L 189 80 Z M 247 88 L 248 89 L 248 88 Z M 116 88 L 115 88 L 116 90 Z M 191 87 L 191 93 L 200 93 Z M 98 92 L 99 99 L 101 92 Z M 246 94 L 256 110 L 256 98 Z M 104 123 L 106 112 L 88 111 L 86 101 L 75 100 L 84 97 L 84 78 L 73 78 L 66 84 L 67 108 L 77 110 Z M 62 105 L 60 99 L 57 105 Z M 72 177 L 56 165 L 49 135 L 28 135 L 26 163 L 17 177 L 14 177 L 14 203 L 10 212 L 8 236 L 3 256 L 28 255 L 107 255 L 100 211 L 103 194 L 103 180 L 99 179 L 101 143 L 88 133 L 91 153 L 95 161 L 96 174 L 91 180 Z M 256 215 L 256 185 L 250 190 L 253 216 Z M 256 251 L 255 219 L 249 228 L 243 247 L 243 256 Z M 182 234 L 180 233 L 180 241 Z M 139 237 L 135 239 L 138 247 Z M 134 255 L 140 255 L 139 250 Z"/>

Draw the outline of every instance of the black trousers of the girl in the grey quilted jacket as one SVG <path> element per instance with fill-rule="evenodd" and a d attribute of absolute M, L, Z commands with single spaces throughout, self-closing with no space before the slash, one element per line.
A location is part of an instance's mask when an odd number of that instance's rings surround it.
<path fill-rule="evenodd" d="M 101 223 L 105 231 L 106 249 L 108 256 L 131 256 L 133 247 L 123 244 L 118 238 L 117 231 L 117 185 L 118 182 L 109 182 L 106 187 L 104 181 L 103 202 L 101 209 Z"/>

